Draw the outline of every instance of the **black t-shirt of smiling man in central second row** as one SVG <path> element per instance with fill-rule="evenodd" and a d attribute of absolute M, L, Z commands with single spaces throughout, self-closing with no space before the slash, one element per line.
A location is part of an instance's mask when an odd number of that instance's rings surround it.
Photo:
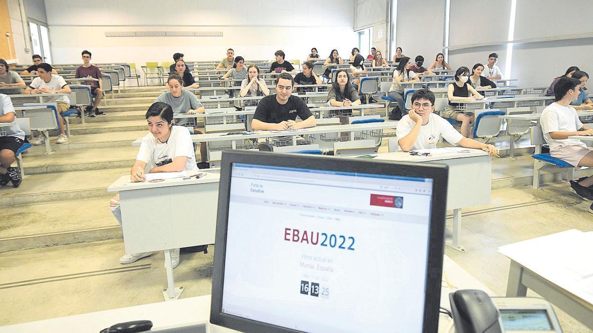
<path fill-rule="evenodd" d="M 257 104 L 253 119 L 264 123 L 278 124 L 281 121 L 297 120 L 297 116 L 301 120 L 305 120 L 313 116 L 313 113 L 307 104 L 297 96 L 291 95 L 286 104 L 280 104 L 276 100 L 276 94 L 273 94 L 262 98 Z"/>

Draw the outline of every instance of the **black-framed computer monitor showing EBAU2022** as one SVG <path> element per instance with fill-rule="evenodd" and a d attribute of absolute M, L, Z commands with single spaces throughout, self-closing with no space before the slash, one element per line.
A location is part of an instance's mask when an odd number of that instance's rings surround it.
<path fill-rule="evenodd" d="M 212 324 L 436 332 L 448 169 L 222 154 Z"/>

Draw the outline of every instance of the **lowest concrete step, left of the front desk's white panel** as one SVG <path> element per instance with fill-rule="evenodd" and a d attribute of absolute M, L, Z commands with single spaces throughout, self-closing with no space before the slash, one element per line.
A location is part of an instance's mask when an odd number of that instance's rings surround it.
<path fill-rule="evenodd" d="M 4 207 L 0 252 L 121 239 L 122 229 L 109 210 L 109 198 Z M 18 219 L 15 217 L 18 216 Z"/>

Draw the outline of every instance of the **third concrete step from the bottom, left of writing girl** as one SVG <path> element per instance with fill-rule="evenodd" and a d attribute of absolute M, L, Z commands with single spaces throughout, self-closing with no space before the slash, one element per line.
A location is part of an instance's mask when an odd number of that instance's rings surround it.
<path fill-rule="evenodd" d="M 131 142 L 126 146 L 56 151 L 50 155 L 37 152 L 23 158 L 23 166 L 25 175 L 129 168 L 137 153 L 138 147 L 132 147 Z"/>

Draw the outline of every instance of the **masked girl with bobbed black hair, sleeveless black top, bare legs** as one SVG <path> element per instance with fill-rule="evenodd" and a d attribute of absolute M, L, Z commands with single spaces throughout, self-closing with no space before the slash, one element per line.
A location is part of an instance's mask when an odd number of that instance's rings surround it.
<path fill-rule="evenodd" d="M 470 69 L 462 66 L 455 72 L 455 82 L 447 87 L 449 106 L 441 111 L 441 117 L 461 121 L 461 134 L 470 137 L 470 125 L 476 119 L 473 112 L 460 111 L 460 104 L 454 101 L 482 100 L 484 97 L 467 83 Z M 471 97 L 468 97 L 471 94 Z"/>

